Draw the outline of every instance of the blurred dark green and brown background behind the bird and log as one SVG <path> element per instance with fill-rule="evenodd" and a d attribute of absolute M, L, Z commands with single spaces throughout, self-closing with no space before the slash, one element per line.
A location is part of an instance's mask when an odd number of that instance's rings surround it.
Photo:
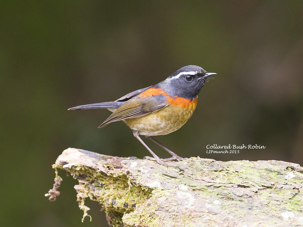
<path fill-rule="evenodd" d="M 107 226 L 97 203 L 82 224 L 76 183 L 57 201 L 51 165 L 62 150 L 113 156 L 148 151 L 124 123 L 98 129 L 115 100 L 196 64 L 218 73 L 180 130 L 158 137 L 180 156 L 303 165 L 302 1 L 2 1 L 2 226 Z M 161 157 L 164 150 L 148 145 Z M 206 154 L 207 144 L 265 150 Z"/>

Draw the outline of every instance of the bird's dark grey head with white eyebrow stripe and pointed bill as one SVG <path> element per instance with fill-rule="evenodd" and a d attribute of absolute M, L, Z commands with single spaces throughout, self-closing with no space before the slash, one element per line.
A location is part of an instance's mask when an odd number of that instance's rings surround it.
<path fill-rule="evenodd" d="M 208 73 L 197 65 L 184 66 L 158 85 L 171 97 L 194 99 L 205 84 L 205 80 L 216 73 Z"/>

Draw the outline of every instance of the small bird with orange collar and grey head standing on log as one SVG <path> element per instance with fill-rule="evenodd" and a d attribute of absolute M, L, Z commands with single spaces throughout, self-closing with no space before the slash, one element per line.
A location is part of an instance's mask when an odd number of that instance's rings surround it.
<path fill-rule="evenodd" d="M 115 101 L 86 104 L 68 110 L 108 109 L 112 114 L 98 128 L 115 121 L 124 121 L 132 129 L 134 137 L 153 156 L 144 158 L 171 166 L 168 161 L 182 161 L 187 158 L 178 156 L 153 137 L 172 133 L 188 121 L 197 106 L 201 88 L 213 75 L 216 73 L 209 73 L 197 65 L 187 65 L 164 81 L 130 92 Z M 146 145 L 140 135 L 159 145 L 170 153 L 171 157 L 161 159 Z"/>

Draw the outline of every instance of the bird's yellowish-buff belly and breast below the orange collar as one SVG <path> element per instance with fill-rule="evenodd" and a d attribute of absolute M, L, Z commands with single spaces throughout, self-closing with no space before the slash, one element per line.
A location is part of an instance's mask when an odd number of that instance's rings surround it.
<path fill-rule="evenodd" d="M 195 105 L 191 108 L 168 106 L 157 112 L 123 121 L 131 129 L 139 131 L 140 135 L 166 135 L 181 128 L 191 117 L 195 107 Z"/>

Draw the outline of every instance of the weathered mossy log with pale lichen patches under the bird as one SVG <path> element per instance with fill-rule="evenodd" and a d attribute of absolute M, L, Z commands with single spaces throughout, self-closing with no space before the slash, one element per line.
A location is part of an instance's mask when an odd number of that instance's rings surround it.
<path fill-rule="evenodd" d="M 193 157 L 176 167 L 68 148 L 57 169 L 78 180 L 79 208 L 100 203 L 111 226 L 302 226 L 303 168 L 283 161 L 215 161 Z M 83 221 L 82 219 L 82 221 Z"/>

